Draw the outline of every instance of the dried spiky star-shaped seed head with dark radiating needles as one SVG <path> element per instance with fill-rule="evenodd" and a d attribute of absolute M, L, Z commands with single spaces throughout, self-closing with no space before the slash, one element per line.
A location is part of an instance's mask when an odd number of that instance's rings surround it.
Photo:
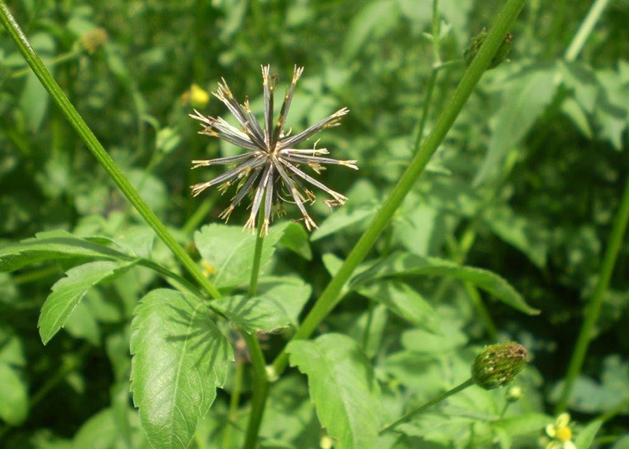
<path fill-rule="evenodd" d="M 222 101 L 231 114 L 236 117 L 240 129 L 231 126 L 221 117 L 205 116 L 196 110 L 194 114 L 190 114 L 194 120 L 201 122 L 203 129 L 199 131 L 200 134 L 218 137 L 246 150 L 237 156 L 192 161 L 193 169 L 203 166 L 236 164 L 217 178 L 192 185 L 190 187 L 192 194 L 196 197 L 214 185 L 219 185 L 219 190 L 224 193 L 236 184 L 236 194 L 229 207 L 219 215 L 219 218 L 228 220 L 229 215 L 240 204 L 240 201 L 245 196 L 250 196 L 252 197 L 251 211 L 245 228 L 255 228 L 259 211 L 263 209 L 261 235 L 268 232 L 268 226 L 273 215 L 284 213 L 282 201 L 297 206 L 308 230 L 317 227 L 317 224 L 305 210 L 305 204 L 308 201 L 315 201 L 315 194 L 305 187 L 305 183 L 314 185 L 329 194 L 332 199 L 327 199 L 325 202 L 330 207 L 340 206 L 347 201 L 347 198 L 342 194 L 331 190 L 305 173 L 302 170 L 303 166 L 312 169 L 315 173 L 320 173 L 325 169 L 324 165 L 328 164 L 358 169 L 355 160 L 343 161 L 331 157 L 321 157 L 321 155 L 327 155 L 328 150 L 317 148 L 317 142 L 310 149 L 294 148 L 295 145 L 312 137 L 322 129 L 338 126 L 341 118 L 349 112 L 349 109 L 342 108 L 294 136 L 289 136 L 290 130 L 284 132 L 295 86 L 302 73 L 303 67 L 294 67 L 291 85 L 284 95 L 284 102 L 275 126 L 273 126 L 273 90 L 277 85 L 277 77 L 270 76 L 268 65 L 262 66 L 264 100 L 264 123 L 262 125 L 257 122 L 252 113 L 249 99 L 245 98 L 243 105 L 238 103 L 224 79 L 219 83 L 217 92 L 213 92 L 213 95 Z M 289 195 L 291 199 L 282 197 L 282 194 Z"/>

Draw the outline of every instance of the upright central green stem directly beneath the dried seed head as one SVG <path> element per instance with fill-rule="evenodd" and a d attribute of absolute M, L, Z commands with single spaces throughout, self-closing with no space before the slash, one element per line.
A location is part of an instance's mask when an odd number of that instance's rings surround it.
<path fill-rule="evenodd" d="M 256 230 L 256 248 L 254 250 L 254 259 L 251 269 L 251 280 L 247 293 L 250 297 L 255 296 L 258 290 L 258 276 L 260 273 L 260 260 L 262 255 L 262 244 L 264 236 L 261 234 L 263 217 L 258 218 L 258 229 Z M 268 393 L 268 376 L 266 374 L 266 361 L 260 343 L 255 334 L 247 334 L 242 332 L 247 348 L 251 355 L 251 362 L 254 369 L 254 385 L 251 413 L 249 415 L 249 423 L 247 424 L 247 434 L 245 435 L 244 449 L 254 449 L 258 439 L 258 432 L 262 422 L 264 413 L 264 404 L 266 403 L 266 394 Z"/>

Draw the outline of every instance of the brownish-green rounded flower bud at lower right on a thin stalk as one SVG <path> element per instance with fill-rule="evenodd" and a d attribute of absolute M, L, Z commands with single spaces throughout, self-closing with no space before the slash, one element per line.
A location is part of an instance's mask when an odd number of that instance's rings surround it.
<path fill-rule="evenodd" d="M 486 346 L 472 364 L 472 379 L 485 390 L 511 382 L 528 363 L 528 351 L 514 341 Z"/>

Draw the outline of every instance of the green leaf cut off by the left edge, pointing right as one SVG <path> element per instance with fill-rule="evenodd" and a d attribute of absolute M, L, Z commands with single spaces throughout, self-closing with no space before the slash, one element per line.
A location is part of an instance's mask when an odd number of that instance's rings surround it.
<path fill-rule="evenodd" d="M 14 271 L 28 264 L 73 257 L 127 261 L 131 259 L 122 252 L 75 237 L 66 231 L 48 231 L 1 248 L 0 271 Z"/>

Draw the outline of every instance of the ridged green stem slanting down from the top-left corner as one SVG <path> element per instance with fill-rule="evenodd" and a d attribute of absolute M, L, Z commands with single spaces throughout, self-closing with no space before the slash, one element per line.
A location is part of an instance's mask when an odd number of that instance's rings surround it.
<path fill-rule="evenodd" d="M 26 59 L 37 78 L 39 78 L 43 87 L 45 87 L 45 90 L 48 91 L 48 94 L 50 94 L 50 97 L 52 97 L 53 101 L 55 101 L 57 106 L 59 106 L 59 109 L 61 109 L 68 122 L 70 122 L 75 131 L 77 131 L 79 136 L 85 142 L 85 145 L 87 145 L 87 148 L 89 148 L 101 166 L 103 166 L 103 168 L 107 171 L 110 178 L 112 178 L 114 183 L 120 188 L 124 196 L 129 199 L 131 204 L 133 204 L 133 207 L 135 207 L 138 213 L 142 215 L 142 218 L 144 218 L 147 224 L 152 227 L 155 234 L 157 234 L 161 241 L 163 241 L 166 246 L 171 249 L 175 257 L 179 259 L 181 264 L 185 267 L 185 269 L 187 269 L 199 285 L 212 295 L 212 297 L 219 297 L 220 293 L 217 288 L 210 283 L 208 278 L 203 276 L 203 272 L 198 268 L 198 266 L 196 266 L 194 260 L 192 260 L 188 253 L 179 245 L 179 243 L 177 243 L 173 235 L 168 231 L 168 229 L 166 229 L 166 226 L 164 226 L 159 218 L 157 218 L 157 215 L 155 215 L 152 209 L 140 197 L 138 191 L 133 188 L 131 183 L 129 183 L 129 180 L 124 176 L 122 171 L 120 171 L 120 168 L 118 168 L 115 162 L 113 162 L 113 159 L 111 159 L 105 151 L 103 145 L 101 145 L 96 136 L 94 136 L 92 130 L 89 129 L 74 106 L 72 106 L 68 97 L 66 97 L 61 87 L 59 87 L 55 81 L 55 78 L 53 78 L 50 71 L 45 68 L 40 57 L 38 57 L 35 50 L 31 47 L 27 37 L 24 36 L 22 29 L 20 29 L 20 25 L 15 22 L 15 18 L 11 15 L 4 0 L 0 0 L 0 21 L 4 27 L 6 27 L 9 36 L 13 39 L 13 42 L 15 42 L 18 50 L 20 50 L 22 56 L 24 56 L 24 59 Z"/>

